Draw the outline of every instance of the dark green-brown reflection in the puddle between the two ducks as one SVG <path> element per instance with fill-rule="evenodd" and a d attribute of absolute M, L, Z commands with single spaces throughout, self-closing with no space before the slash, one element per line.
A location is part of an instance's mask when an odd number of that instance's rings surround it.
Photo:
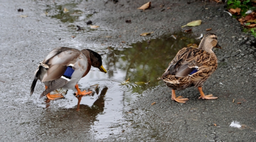
<path fill-rule="evenodd" d="M 176 53 L 190 43 L 197 43 L 196 39 L 187 36 L 178 33 L 134 43 L 130 45 L 132 48 L 124 50 L 109 48 L 111 53 L 106 57 L 107 69 L 110 69 L 109 78 L 115 78 L 118 71 L 125 72 L 124 80 L 130 78 L 130 83 L 140 86 L 133 88 L 134 93 L 142 93 L 148 87 L 158 85 L 157 78 L 162 75 Z"/>

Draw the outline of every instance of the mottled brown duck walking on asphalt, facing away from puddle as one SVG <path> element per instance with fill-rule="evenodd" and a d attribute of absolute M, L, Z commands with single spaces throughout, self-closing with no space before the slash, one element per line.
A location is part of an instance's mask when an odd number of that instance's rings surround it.
<path fill-rule="evenodd" d="M 211 95 L 204 95 L 202 85 L 204 81 L 217 69 L 217 57 L 212 47 L 221 49 L 217 36 L 212 33 L 206 34 L 198 48 L 184 47 L 170 62 L 162 77 L 164 83 L 172 89 L 172 100 L 186 103 L 188 98 L 176 97 L 175 90 L 183 90 L 187 87 L 198 87 L 200 97 L 198 99 L 217 99 Z"/>

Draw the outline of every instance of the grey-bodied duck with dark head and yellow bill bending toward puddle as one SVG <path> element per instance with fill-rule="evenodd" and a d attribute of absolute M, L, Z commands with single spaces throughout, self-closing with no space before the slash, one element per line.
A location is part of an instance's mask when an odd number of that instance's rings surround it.
<path fill-rule="evenodd" d="M 34 81 L 30 87 L 30 95 L 32 95 L 39 79 L 45 84 L 45 91 L 40 98 L 46 95 L 51 100 L 63 98 L 61 94 L 50 95 L 50 92 L 62 87 L 64 89 L 76 87 L 76 96 L 91 93 L 80 91 L 77 84 L 90 71 L 91 65 L 107 73 L 102 66 L 101 56 L 90 49 L 79 51 L 68 47 L 58 47 L 53 49 L 44 58 L 44 61 L 39 63 L 40 65 L 38 65 Z"/>

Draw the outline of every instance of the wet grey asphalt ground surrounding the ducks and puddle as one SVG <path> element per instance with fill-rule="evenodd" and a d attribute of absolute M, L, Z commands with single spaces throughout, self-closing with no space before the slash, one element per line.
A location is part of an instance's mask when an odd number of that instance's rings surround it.
<path fill-rule="evenodd" d="M 77 9 L 93 13 L 90 20 L 102 27 L 102 30 L 88 35 L 86 32 L 70 32 L 68 26 L 60 26 L 56 18 L 46 16 L 45 11 L 50 6 L 68 2 L 0 1 L 1 141 L 256 141 L 256 39 L 242 32 L 236 19 L 223 12 L 225 4 L 208 0 L 153 0 L 153 7 L 142 11 L 136 8 L 146 0 L 119 0 L 116 3 L 75 0 Z M 18 8 L 23 8 L 24 12 L 17 12 Z M 200 36 L 207 33 L 207 28 L 212 28 L 210 32 L 218 36 L 223 48 L 214 51 L 218 57 L 218 69 L 203 86 L 205 94 L 213 94 L 218 99 L 198 100 L 198 90 L 188 88 L 177 91 L 176 95 L 190 100 L 186 104 L 176 103 L 171 101 L 171 90 L 162 83 L 125 105 L 124 110 L 131 112 L 123 116 L 128 125 L 116 124 L 115 127 L 121 127 L 120 131 L 101 139 L 95 138 L 97 134 L 88 133 L 96 116 L 84 115 L 86 112 L 79 114 L 75 108 L 73 111 L 43 109 L 35 103 L 37 100 L 43 104 L 43 100 L 29 95 L 38 61 L 54 47 L 83 49 L 83 44 L 86 44 L 95 49 L 104 46 L 122 48 L 138 41 L 188 30 L 190 27 L 181 26 L 199 19 L 202 25 L 192 27 L 191 34 Z M 126 23 L 126 20 L 131 20 L 131 23 Z M 86 27 L 84 22 L 77 24 Z M 153 31 L 151 36 L 139 36 Z M 70 37 L 73 35 L 76 36 L 74 39 Z M 105 36 L 112 38 L 106 40 Z M 40 94 L 40 87 L 36 89 Z M 151 105 L 153 102 L 156 103 Z M 87 111 L 86 107 L 84 111 Z M 240 122 L 242 128 L 230 127 L 232 121 Z"/>

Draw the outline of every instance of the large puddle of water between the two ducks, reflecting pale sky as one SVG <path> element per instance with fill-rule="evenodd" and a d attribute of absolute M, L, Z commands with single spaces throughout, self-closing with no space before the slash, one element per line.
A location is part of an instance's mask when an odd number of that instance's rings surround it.
<path fill-rule="evenodd" d="M 176 34 L 149 41 L 142 41 L 130 45 L 130 48 L 108 48 L 108 53 L 102 55 L 104 67 L 108 73 L 104 74 L 96 68 L 79 81 L 80 89 L 93 91 L 92 95 L 75 97 L 75 89 L 65 95 L 66 99 L 59 99 L 42 104 L 41 107 L 64 108 L 65 111 L 78 111 L 88 115 L 94 124 L 90 133 L 95 138 L 107 138 L 112 134 L 119 134 L 128 125 L 125 106 L 146 90 L 156 87 L 168 63 L 174 58 L 178 50 L 189 43 L 198 43 L 187 34 Z M 129 79 L 129 80 L 128 80 Z M 128 80 L 128 81 L 126 81 Z M 150 82 L 149 82 L 150 81 Z"/>

